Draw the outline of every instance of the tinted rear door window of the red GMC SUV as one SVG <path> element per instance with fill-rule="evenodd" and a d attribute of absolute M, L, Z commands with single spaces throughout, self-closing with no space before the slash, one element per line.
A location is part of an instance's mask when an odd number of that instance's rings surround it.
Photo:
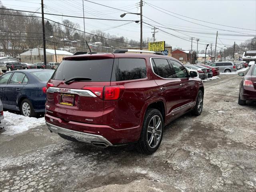
<path fill-rule="evenodd" d="M 175 78 L 175 72 L 171 68 L 167 59 L 154 58 L 153 59 L 153 70 L 155 74 L 162 78 Z"/>

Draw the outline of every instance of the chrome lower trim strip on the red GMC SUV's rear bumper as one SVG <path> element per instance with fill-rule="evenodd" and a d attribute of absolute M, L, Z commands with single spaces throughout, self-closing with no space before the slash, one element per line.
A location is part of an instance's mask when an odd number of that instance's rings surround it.
<path fill-rule="evenodd" d="M 106 147 L 112 146 L 112 143 L 110 143 L 106 138 L 104 138 L 101 135 L 94 135 L 94 134 L 73 131 L 73 130 L 55 126 L 48 122 L 46 122 L 46 125 L 48 126 L 49 130 L 51 130 L 52 132 L 54 132 L 56 134 L 63 134 L 65 136 L 75 138 L 76 140 L 81 141 L 81 142 L 92 143 L 92 144 L 104 144 Z"/>

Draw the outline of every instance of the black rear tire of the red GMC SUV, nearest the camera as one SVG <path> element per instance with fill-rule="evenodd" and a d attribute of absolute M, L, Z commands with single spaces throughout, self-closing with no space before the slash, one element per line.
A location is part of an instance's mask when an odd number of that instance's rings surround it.
<path fill-rule="evenodd" d="M 161 121 L 161 124 L 159 122 L 159 126 L 158 126 L 157 130 L 155 130 L 155 126 L 153 124 L 151 124 L 154 117 L 155 117 L 155 122 L 157 121 L 156 126 L 157 126 L 159 120 Z M 157 120 L 156 120 L 156 118 L 157 118 Z M 148 132 L 149 131 L 148 128 L 150 127 L 150 124 L 153 125 L 153 127 L 154 127 L 152 129 L 151 133 Z M 160 128 L 161 128 L 161 131 L 160 131 Z M 164 120 L 162 118 L 162 114 L 157 109 L 153 109 L 153 108 L 148 109 L 144 116 L 140 139 L 136 144 L 137 150 L 144 154 L 154 153 L 161 144 L 161 141 L 163 138 L 163 132 L 164 132 Z M 160 134 L 160 136 L 157 135 L 157 133 Z M 148 142 L 150 142 L 150 141 L 148 141 L 148 136 L 150 136 L 150 138 L 152 138 L 152 140 L 149 138 L 149 140 L 151 140 L 152 144 L 153 144 L 153 140 L 154 140 L 154 146 L 150 146 L 150 144 L 148 143 Z M 156 143 L 155 143 L 155 138 L 156 138 Z"/>

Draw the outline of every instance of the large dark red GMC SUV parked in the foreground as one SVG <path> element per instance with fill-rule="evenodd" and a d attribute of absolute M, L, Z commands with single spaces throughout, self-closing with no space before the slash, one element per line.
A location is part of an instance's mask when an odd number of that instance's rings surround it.
<path fill-rule="evenodd" d="M 46 124 L 67 140 L 98 147 L 136 143 L 152 154 L 165 125 L 188 111 L 201 114 L 204 85 L 196 76 L 159 52 L 64 57 L 47 84 Z"/>

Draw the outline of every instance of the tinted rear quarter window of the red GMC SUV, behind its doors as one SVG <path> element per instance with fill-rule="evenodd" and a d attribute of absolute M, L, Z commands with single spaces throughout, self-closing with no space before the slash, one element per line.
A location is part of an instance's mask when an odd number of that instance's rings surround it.
<path fill-rule="evenodd" d="M 116 79 L 118 81 L 143 79 L 147 76 L 146 62 L 142 58 L 119 58 Z"/>

